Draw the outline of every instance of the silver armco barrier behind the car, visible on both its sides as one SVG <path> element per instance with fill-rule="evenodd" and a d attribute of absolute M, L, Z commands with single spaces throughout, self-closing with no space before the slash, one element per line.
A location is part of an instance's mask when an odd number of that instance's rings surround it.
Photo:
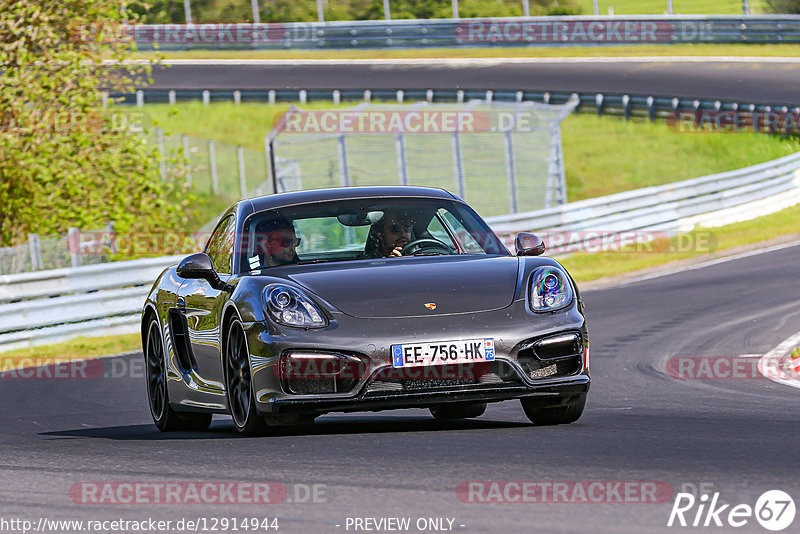
<path fill-rule="evenodd" d="M 487 221 L 506 241 L 521 231 L 685 232 L 696 224 L 729 224 L 798 203 L 800 153 L 736 171 Z M 135 332 L 151 284 L 179 259 L 0 276 L 0 351 L 78 335 Z"/>

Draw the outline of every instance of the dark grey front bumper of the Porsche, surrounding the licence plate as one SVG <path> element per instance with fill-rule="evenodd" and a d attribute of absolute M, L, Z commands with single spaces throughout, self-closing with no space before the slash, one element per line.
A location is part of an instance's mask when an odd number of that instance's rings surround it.
<path fill-rule="evenodd" d="M 256 409 L 264 416 L 320 415 L 327 412 L 425 408 L 448 402 L 498 402 L 536 398 L 542 407 L 562 405 L 585 395 L 590 386 L 583 354 L 560 375 L 528 372 L 520 354 L 534 340 L 563 333 L 577 334 L 588 347 L 588 333 L 577 305 L 552 314 L 533 314 L 523 302 L 504 310 L 400 319 L 359 319 L 336 314 L 323 329 L 245 325 L 250 349 Z M 495 340 L 496 361 L 486 376 L 471 381 L 389 383 L 390 347 L 396 343 L 436 342 L 476 337 Z M 280 356 L 290 350 L 339 352 L 365 362 L 363 376 L 348 391 L 297 395 L 288 393 L 280 372 Z M 559 364 L 561 365 L 561 364 Z M 553 367 L 555 369 L 555 367 Z"/>

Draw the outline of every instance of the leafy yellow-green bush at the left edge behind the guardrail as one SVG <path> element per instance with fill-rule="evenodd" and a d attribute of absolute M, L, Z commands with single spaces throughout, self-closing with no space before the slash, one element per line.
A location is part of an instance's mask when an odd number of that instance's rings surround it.
<path fill-rule="evenodd" d="M 115 31 L 122 5 L 0 0 L 0 245 L 106 221 L 118 232 L 187 222 L 192 197 L 181 177 L 162 182 L 132 113 L 101 106 L 101 88 L 129 90 L 149 77 L 149 65 L 100 67 L 131 49 Z"/>

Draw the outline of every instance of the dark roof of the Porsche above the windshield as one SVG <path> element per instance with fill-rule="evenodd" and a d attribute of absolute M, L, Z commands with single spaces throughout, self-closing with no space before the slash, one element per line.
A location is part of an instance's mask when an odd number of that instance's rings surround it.
<path fill-rule="evenodd" d="M 447 200 L 456 200 L 456 197 L 448 191 L 433 187 L 371 186 L 309 189 L 305 191 L 277 193 L 274 195 L 251 198 L 243 202 L 250 202 L 252 211 L 255 212 L 267 209 L 282 208 L 296 204 L 306 204 L 309 202 L 391 197 L 442 198 Z"/>

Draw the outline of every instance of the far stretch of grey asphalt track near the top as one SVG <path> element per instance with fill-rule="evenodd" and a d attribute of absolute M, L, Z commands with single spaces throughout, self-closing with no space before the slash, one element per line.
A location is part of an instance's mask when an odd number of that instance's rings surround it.
<path fill-rule="evenodd" d="M 153 79 L 153 89 L 577 91 L 800 105 L 793 60 L 176 61 Z"/>

